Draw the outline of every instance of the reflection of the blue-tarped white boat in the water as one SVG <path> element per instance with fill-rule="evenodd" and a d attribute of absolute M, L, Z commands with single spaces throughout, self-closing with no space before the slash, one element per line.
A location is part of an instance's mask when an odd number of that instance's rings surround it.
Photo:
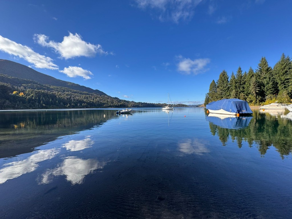
<path fill-rule="evenodd" d="M 241 129 L 248 126 L 252 116 L 237 117 L 235 115 L 209 113 L 206 119 L 221 128 Z"/>

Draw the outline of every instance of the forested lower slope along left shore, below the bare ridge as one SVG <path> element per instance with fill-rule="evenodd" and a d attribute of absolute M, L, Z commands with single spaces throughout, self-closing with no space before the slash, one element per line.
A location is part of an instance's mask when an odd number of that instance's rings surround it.
<path fill-rule="evenodd" d="M 5 81 L 5 83 L 4 83 Z M 0 109 L 70 109 L 109 107 L 162 107 L 165 103 L 121 100 L 102 93 L 77 91 L 0 74 Z M 183 104 L 173 104 L 185 107 Z"/>

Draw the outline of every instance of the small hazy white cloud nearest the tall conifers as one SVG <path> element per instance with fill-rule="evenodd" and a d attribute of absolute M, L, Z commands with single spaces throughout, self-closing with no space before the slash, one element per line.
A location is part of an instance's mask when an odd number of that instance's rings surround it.
<path fill-rule="evenodd" d="M 210 59 L 194 59 L 183 58 L 182 56 L 178 56 L 180 62 L 178 63 L 178 71 L 183 72 L 185 74 L 199 74 L 201 72 L 206 72 L 206 65 L 210 63 Z"/>

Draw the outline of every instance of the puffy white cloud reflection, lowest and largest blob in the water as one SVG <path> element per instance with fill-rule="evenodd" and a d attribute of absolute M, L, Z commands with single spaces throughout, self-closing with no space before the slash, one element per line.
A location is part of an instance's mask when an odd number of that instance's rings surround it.
<path fill-rule="evenodd" d="M 81 159 L 77 157 L 66 157 L 57 168 L 43 173 L 39 178 L 39 184 L 51 183 L 54 176 L 65 175 L 66 180 L 74 184 L 82 184 L 84 177 L 98 168 L 103 168 L 106 162 L 98 162 L 94 159 Z"/>

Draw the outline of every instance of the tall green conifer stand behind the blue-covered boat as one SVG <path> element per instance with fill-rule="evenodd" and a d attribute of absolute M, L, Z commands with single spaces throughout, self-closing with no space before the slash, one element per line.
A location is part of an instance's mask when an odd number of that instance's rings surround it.
<path fill-rule="evenodd" d="M 248 72 L 243 73 L 239 66 L 236 74 L 232 72 L 230 78 L 223 70 L 218 80 L 211 82 L 204 105 L 224 98 L 246 100 L 252 106 L 270 104 L 275 101 L 290 103 L 292 99 L 291 58 L 283 53 L 272 68 L 266 58 L 262 57 L 255 70 L 250 67 Z"/>

